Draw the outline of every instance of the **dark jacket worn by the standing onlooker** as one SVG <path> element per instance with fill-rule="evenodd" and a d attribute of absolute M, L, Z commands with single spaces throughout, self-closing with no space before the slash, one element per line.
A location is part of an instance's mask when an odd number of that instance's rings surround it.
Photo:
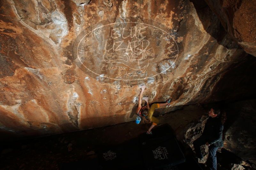
<path fill-rule="evenodd" d="M 209 117 L 205 124 L 205 129 L 203 131 L 202 136 L 205 136 L 208 139 L 208 143 L 210 145 L 223 147 L 223 140 L 222 140 L 223 127 L 224 126 L 221 123 L 220 118 Z"/>

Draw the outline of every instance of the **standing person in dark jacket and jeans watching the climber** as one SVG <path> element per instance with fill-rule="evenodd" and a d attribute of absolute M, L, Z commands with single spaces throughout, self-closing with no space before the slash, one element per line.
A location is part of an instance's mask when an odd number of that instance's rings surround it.
<path fill-rule="evenodd" d="M 198 159 L 203 159 L 200 146 L 207 145 L 209 147 L 208 167 L 211 170 L 216 170 L 216 152 L 219 147 L 223 147 L 222 131 L 223 124 L 226 121 L 226 113 L 218 108 L 211 108 L 208 115 L 209 118 L 205 124 L 205 129 L 202 135 L 193 142 L 193 145 Z"/>

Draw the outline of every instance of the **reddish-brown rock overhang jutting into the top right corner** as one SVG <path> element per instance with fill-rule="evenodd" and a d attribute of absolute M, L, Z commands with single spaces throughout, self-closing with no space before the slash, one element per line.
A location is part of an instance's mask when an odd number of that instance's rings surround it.
<path fill-rule="evenodd" d="M 256 1 L 205 0 L 229 35 L 246 53 L 256 56 Z"/>

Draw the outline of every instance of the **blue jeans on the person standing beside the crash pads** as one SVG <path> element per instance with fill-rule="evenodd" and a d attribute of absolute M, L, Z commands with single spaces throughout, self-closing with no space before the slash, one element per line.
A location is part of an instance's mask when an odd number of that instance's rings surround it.
<path fill-rule="evenodd" d="M 200 138 L 196 139 L 193 142 L 196 156 L 200 159 L 203 158 L 203 155 L 200 150 L 200 146 L 205 145 L 206 142 L 208 142 L 208 139 L 206 136 L 201 136 Z M 209 146 L 209 155 L 208 155 L 208 159 L 207 159 L 207 164 L 208 164 L 208 167 L 210 168 L 210 170 L 217 170 L 216 152 L 217 152 L 218 148 L 219 147 L 214 146 L 214 145 Z"/>

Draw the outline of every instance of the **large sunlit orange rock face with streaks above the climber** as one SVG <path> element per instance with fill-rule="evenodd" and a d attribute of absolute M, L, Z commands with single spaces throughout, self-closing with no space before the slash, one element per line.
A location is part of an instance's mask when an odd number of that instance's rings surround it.
<path fill-rule="evenodd" d="M 133 121 L 142 84 L 150 102 L 202 103 L 245 55 L 187 0 L 3 0 L 0 23 L 0 127 L 19 135 Z"/>

